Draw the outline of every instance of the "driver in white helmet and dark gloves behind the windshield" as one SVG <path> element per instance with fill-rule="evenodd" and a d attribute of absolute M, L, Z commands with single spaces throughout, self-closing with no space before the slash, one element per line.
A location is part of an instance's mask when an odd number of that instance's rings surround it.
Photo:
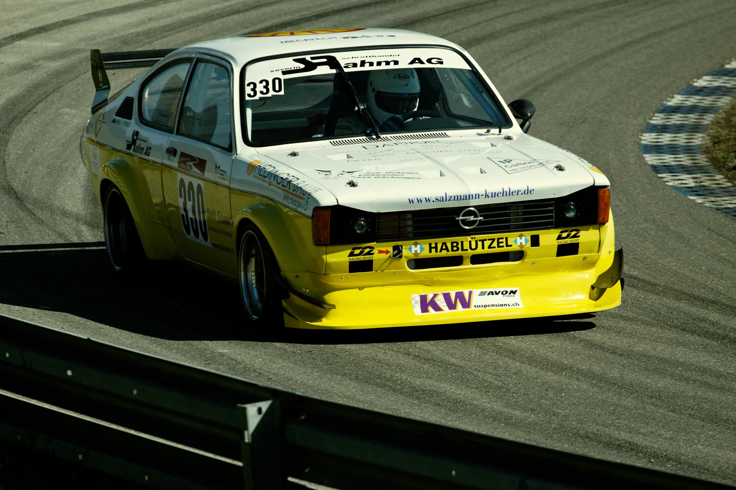
<path fill-rule="evenodd" d="M 367 82 L 368 110 L 375 120 L 382 121 L 382 131 L 400 129 L 391 117 L 417 110 L 419 107 L 420 83 L 414 68 L 372 70 Z M 337 121 L 335 134 L 362 134 L 366 127 L 356 112 Z"/>

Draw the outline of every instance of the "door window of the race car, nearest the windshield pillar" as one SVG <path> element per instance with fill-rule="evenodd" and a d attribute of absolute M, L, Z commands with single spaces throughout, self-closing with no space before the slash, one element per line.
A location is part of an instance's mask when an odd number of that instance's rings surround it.
<path fill-rule="evenodd" d="M 178 133 L 230 149 L 230 75 L 225 68 L 197 62 L 184 98 Z"/>

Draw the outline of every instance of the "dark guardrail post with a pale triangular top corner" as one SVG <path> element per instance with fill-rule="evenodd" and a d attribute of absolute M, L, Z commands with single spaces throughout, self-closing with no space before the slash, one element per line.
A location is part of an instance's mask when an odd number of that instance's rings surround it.
<path fill-rule="evenodd" d="M 243 428 L 241 453 L 245 490 L 283 489 L 286 474 L 277 400 L 238 405 L 238 415 Z"/>

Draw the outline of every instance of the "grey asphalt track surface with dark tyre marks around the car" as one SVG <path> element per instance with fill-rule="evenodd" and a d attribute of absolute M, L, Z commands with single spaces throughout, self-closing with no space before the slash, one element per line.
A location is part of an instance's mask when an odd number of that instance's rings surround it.
<path fill-rule="evenodd" d="M 665 98 L 736 56 L 735 1 L 30 0 L 0 12 L 1 313 L 316 397 L 736 484 L 736 220 L 662 183 L 637 140 Z M 248 328 L 233 284 L 154 264 L 128 287 L 104 250 L 44 245 L 102 240 L 79 152 L 90 48 L 353 26 L 459 43 L 506 101 L 534 101 L 531 134 L 604 170 L 626 251 L 622 306 L 269 334 Z M 113 92 L 138 73 L 111 75 Z"/>

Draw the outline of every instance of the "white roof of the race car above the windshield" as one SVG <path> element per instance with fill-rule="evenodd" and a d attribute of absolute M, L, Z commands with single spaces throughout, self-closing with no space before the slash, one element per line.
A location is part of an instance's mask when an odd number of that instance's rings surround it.
<path fill-rule="evenodd" d="M 241 68 L 251 60 L 262 57 L 291 54 L 300 51 L 328 49 L 375 48 L 389 45 L 433 45 L 448 46 L 465 51 L 455 43 L 421 32 L 403 29 L 317 29 L 314 31 L 271 32 L 263 35 L 225 37 L 185 46 L 171 55 L 182 51 L 201 51 L 220 55 Z"/>

